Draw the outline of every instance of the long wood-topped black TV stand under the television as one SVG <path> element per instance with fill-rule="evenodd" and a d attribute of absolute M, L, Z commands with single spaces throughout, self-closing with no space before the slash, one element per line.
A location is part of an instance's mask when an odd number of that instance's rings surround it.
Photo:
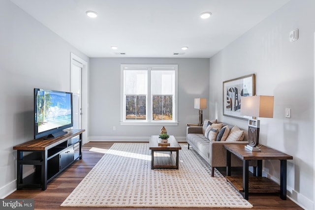
<path fill-rule="evenodd" d="M 47 183 L 57 177 L 75 160 L 82 159 L 82 133 L 85 130 L 67 130 L 67 134 L 17 145 L 17 189 L 35 187 L 47 189 Z M 23 178 L 23 166 L 33 165 L 34 172 Z"/>

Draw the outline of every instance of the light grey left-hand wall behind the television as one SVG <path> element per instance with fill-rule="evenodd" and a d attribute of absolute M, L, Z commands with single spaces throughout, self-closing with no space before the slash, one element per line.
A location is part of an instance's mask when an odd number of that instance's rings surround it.
<path fill-rule="evenodd" d="M 33 138 L 33 89 L 70 90 L 70 52 L 89 58 L 0 0 L 0 197 L 16 189 L 16 150 Z"/>

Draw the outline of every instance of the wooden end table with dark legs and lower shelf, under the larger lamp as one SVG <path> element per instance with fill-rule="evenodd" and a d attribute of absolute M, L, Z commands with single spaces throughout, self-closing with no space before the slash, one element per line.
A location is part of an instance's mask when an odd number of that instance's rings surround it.
<path fill-rule="evenodd" d="M 279 185 L 262 177 L 262 160 L 280 160 L 280 198 L 286 200 L 286 160 L 293 159 L 278 150 L 262 146 L 261 151 L 251 151 L 244 145 L 224 145 L 226 152 L 226 180 L 243 194 L 248 200 L 249 192 L 276 192 Z M 243 160 L 243 177 L 231 177 L 231 153 Z M 249 178 L 249 161 L 257 160 L 257 177 Z M 278 189 L 277 189 L 278 188 Z M 276 191 L 275 191 L 276 190 Z"/>

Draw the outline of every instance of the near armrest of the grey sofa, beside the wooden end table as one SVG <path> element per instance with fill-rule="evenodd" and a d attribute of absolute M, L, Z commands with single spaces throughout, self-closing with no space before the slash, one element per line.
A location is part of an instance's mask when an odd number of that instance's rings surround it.
<path fill-rule="evenodd" d="M 225 167 L 226 166 L 226 150 L 223 145 L 227 144 L 243 144 L 244 146 L 248 144 L 248 141 L 238 141 L 238 142 L 210 142 L 209 144 L 209 163 L 212 167 Z M 232 166 L 242 166 L 241 160 L 238 158 L 232 158 Z"/>

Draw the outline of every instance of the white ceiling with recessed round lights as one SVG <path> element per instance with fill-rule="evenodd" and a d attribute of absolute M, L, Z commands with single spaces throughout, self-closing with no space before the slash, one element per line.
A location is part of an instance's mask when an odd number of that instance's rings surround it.
<path fill-rule="evenodd" d="M 289 0 L 11 1 L 91 58 L 210 58 Z"/>

